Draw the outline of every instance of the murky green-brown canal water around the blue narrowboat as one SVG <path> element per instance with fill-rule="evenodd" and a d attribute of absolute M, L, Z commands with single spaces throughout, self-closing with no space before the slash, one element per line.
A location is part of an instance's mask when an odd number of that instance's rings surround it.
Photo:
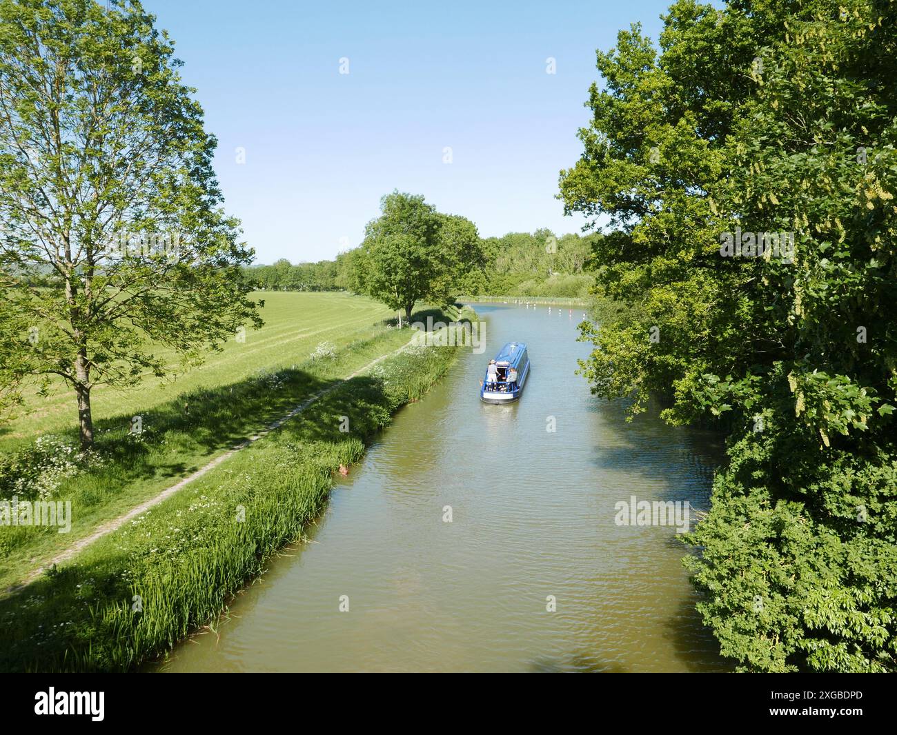
<path fill-rule="evenodd" d="M 592 396 L 574 373 L 589 350 L 581 309 L 476 309 L 485 351 L 467 350 L 396 415 L 309 540 L 272 560 L 217 634 L 152 668 L 727 669 L 694 610 L 675 526 L 620 524 L 617 506 L 687 502 L 693 522 L 718 439 L 656 413 L 627 423 L 623 402 Z M 512 341 L 532 360 L 523 397 L 483 404 L 486 363 Z"/>

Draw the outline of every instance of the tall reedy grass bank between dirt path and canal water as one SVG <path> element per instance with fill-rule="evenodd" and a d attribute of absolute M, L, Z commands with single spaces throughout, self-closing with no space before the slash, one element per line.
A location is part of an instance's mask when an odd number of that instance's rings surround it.
<path fill-rule="evenodd" d="M 132 670 L 216 619 L 276 549 L 300 537 L 333 473 L 356 462 L 455 355 L 412 348 L 383 360 L 73 564 L 0 601 L 0 670 Z"/>

